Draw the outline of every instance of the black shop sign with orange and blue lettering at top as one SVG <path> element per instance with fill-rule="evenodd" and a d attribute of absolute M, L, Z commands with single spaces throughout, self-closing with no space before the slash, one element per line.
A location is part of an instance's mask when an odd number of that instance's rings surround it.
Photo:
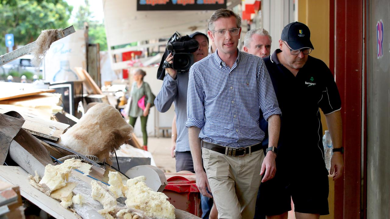
<path fill-rule="evenodd" d="M 217 10 L 227 0 L 137 0 L 137 11 Z"/>

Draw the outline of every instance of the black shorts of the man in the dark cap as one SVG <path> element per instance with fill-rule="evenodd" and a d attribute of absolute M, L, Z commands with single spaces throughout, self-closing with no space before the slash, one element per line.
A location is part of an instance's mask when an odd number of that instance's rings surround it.
<path fill-rule="evenodd" d="M 283 214 L 291 210 L 293 198 L 295 212 L 329 214 L 329 181 L 323 168 L 301 166 L 291 170 L 277 165 L 275 178 L 260 185 L 256 210 L 265 215 Z"/>

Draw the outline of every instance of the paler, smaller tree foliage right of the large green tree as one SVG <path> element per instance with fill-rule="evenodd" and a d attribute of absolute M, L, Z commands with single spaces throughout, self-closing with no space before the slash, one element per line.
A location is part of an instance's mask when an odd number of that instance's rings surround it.
<path fill-rule="evenodd" d="M 84 5 L 80 5 L 78 11 L 76 12 L 76 19 L 74 21 L 74 27 L 77 29 L 83 29 L 84 23 L 88 23 L 88 38 L 89 43 L 96 44 L 99 43 L 100 50 L 107 50 L 107 38 L 106 38 L 106 29 L 102 22 L 94 20 L 92 12 L 90 11 L 89 0 L 84 0 Z"/>

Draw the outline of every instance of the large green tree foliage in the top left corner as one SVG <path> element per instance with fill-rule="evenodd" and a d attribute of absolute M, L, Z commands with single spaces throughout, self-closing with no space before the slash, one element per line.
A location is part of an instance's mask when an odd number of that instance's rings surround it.
<path fill-rule="evenodd" d="M 66 28 L 72 10 L 65 0 L 0 0 L 0 47 L 4 50 L 5 34 L 14 34 L 15 45 L 25 45 L 42 30 Z"/>

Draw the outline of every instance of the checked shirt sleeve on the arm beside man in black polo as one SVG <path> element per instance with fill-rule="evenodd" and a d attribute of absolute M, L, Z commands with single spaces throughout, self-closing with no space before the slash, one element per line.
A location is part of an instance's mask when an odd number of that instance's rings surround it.
<path fill-rule="evenodd" d="M 260 108 L 263 112 L 263 117 L 268 121 L 271 115 L 282 115 L 282 111 L 279 108 L 278 99 L 273 89 L 271 78 L 269 77 L 266 65 L 261 63 L 259 69 L 259 95 L 260 95 Z"/>

